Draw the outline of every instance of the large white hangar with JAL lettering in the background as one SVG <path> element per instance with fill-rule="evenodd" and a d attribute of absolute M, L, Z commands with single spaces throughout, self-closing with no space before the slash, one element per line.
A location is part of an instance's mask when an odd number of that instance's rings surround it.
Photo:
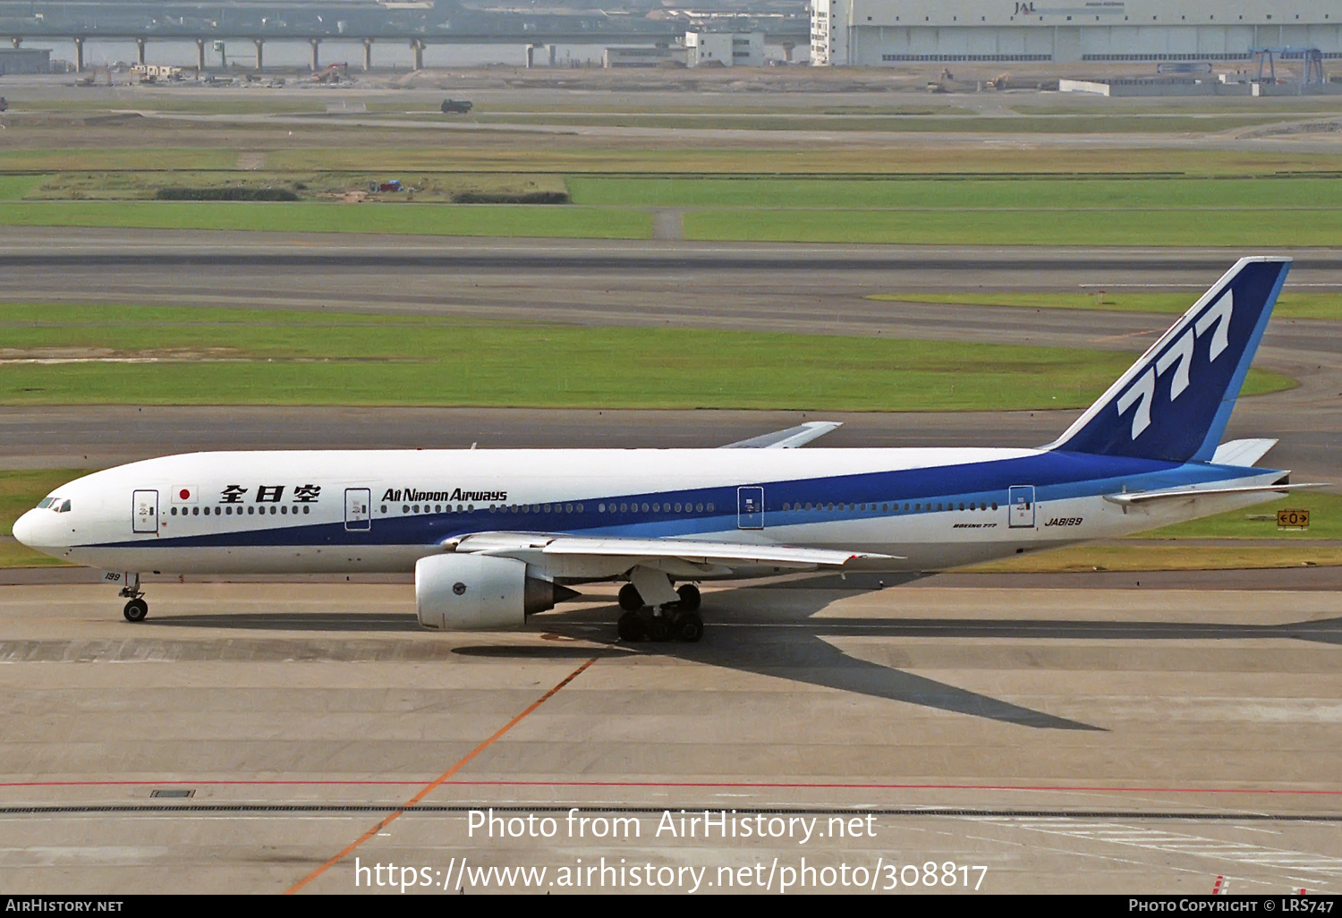
<path fill-rule="evenodd" d="M 1342 58 L 1337 0 L 811 0 L 811 63 Z M 1290 52 L 1286 55 L 1291 56 Z"/>

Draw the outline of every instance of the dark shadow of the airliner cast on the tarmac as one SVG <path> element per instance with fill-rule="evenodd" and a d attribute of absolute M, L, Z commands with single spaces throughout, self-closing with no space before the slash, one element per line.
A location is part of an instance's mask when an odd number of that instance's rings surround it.
<path fill-rule="evenodd" d="M 815 581 L 804 585 L 815 588 Z M 825 584 L 837 586 L 840 584 Z M 890 585 L 890 581 L 887 581 Z M 843 584 L 851 589 L 852 584 Z M 792 679 L 794 682 L 852 691 L 872 698 L 921 705 L 1019 726 L 1051 730 L 1103 730 L 1103 727 L 1047 714 L 997 698 L 958 688 L 935 679 L 871 663 L 851 656 L 825 638 L 978 638 L 1037 640 L 1245 640 L 1295 639 L 1342 646 L 1342 619 L 1299 621 L 1282 625 L 1217 624 L 1201 621 L 1078 621 L 1078 620 L 993 620 L 993 619 L 851 619 L 815 617 L 832 596 L 789 596 L 786 608 L 768 608 L 756 601 L 730 617 L 711 615 L 731 592 L 717 593 L 710 605 L 705 640 L 696 644 L 617 644 L 613 619 L 617 607 L 590 607 L 570 613 L 533 617 L 529 631 L 550 638 L 534 644 L 466 644 L 451 654 L 493 659 L 586 659 L 663 654 L 679 659 L 743 672 Z M 760 591 L 756 597 L 769 591 Z M 821 592 L 821 591 L 817 591 Z M 828 591 L 823 591 L 828 592 Z M 801 601 L 797 601 L 797 600 Z M 746 603 L 745 605 L 752 605 Z M 153 625 L 220 628 L 234 631 L 309 632 L 420 632 L 408 615 L 315 612 L 315 613 L 215 613 L 157 616 Z M 137 625 L 138 627 L 138 625 Z M 581 640 L 584 646 L 572 646 Z M 592 643 L 605 644 L 592 650 Z M 446 650 L 446 648 L 444 648 Z M 319 650 L 314 648 L 319 655 Z"/>

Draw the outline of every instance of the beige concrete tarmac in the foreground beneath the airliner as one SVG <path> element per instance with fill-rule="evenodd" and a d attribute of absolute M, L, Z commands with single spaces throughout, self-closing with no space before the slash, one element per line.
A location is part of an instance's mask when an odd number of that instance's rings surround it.
<path fill-rule="evenodd" d="M 303 888 L 354 890 L 356 856 L 467 891 L 444 876 L 462 858 L 552 880 L 604 856 L 719 884 L 801 858 L 982 866 L 988 891 L 1342 883 L 1335 591 L 819 586 L 711 589 L 703 643 L 632 647 L 605 588 L 446 636 L 408 585 L 154 584 L 138 625 L 107 588 L 0 588 L 0 884 L 282 891 L 365 835 Z M 470 836 L 491 805 L 640 835 Z M 862 831 L 656 835 L 682 808 Z"/>

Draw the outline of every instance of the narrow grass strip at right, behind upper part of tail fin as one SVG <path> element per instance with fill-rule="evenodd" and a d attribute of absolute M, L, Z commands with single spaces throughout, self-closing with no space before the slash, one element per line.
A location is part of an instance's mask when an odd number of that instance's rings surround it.
<path fill-rule="evenodd" d="M 1185 293 L 1129 293 L 1121 290 L 1094 293 L 891 293 L 871 294 L 868 299 L 891 303 L 946 303 L 964 306 L 1019 306 L 1028 309 L 1082 309 L 1115 313 L 1165 313 L 1178 315 L 1192 306 L 1200 294 Z M 1304 318 L 1342 321 L 1342 294 L 1337 293 L 1283 293 L 1272 309 L 1278 318 Z"/>

